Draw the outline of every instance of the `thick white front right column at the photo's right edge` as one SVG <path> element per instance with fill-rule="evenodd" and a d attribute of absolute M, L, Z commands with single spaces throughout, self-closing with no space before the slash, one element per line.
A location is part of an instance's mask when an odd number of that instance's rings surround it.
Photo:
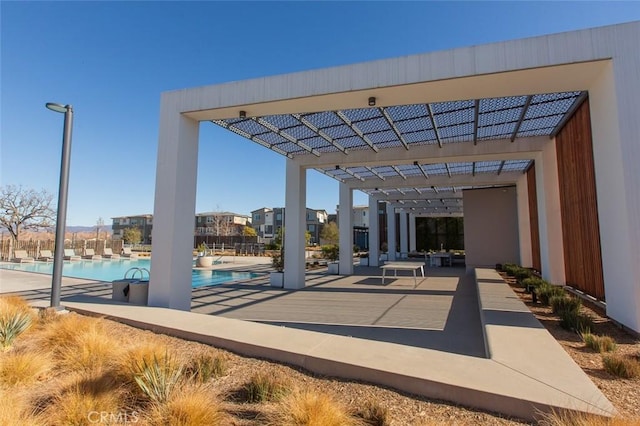
<path fill-rule="evenodd" d="M 640 54 L 628 41 L 637 39 L 620 34 L 589 106 L 607 315 L 640 333 Z"/>

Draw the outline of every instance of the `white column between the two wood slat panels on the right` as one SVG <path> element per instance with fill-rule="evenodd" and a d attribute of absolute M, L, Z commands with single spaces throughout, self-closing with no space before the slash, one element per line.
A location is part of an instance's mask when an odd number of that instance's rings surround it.
<path fill-rule="evenodd" d="M 555 139 L 543 147 L 535 161 L 542 277 L 554 284 L 565 284 Z"/>

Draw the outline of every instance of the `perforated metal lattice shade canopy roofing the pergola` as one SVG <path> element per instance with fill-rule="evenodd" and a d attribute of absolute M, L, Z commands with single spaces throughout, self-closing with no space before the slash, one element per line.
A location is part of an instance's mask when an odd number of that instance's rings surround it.
<path fill-rule="evenodd" d="M 584 98 L 586 92 L 576 91 L 229 118 L 212 122 L 288 158 L 302 155 L 321 157 L 333 152 L 358 155 L 361 150 L 410 151 L 419 145 L 443 147 L 446 144 L 491 143 L 500 139 L 517 143 L 519 138 L 553 137 Z M 530 164 L 531 159 L 436 164 L 414 161 L 413 164 L 334 166 L 316 170 L 341 182 L 365 182 L 416 176 L 424 176 L 428 180 L 432 176 L 451 178 L 458 175 L 522 173 Z M 451 191 L 463 189 L 462 186 L 449 187 Z M 446 192 L 445 188 L 425 186 L 407 192 L 420 195 L 413 200 L 418 201 L 433 191 Z M 385 195 L 373 189 L 363 191 L 370 195 Z M 385 195 L 385 198 L 392 199 L 393 196 Z"/>

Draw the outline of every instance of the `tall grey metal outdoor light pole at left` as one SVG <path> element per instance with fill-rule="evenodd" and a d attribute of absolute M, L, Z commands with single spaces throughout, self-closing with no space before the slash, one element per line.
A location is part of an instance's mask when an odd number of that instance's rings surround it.
<path fill-rule="evenodd" d="M 62 134 L 62 161 L 60 163 L 60 186 L 58 187 L 58 216 L 56 219 L 56 241 L 53 257 L 53 277 L 51 279 L 51 307 L 60 309 L 60 287 L 62 283 L 62 262 L 64 261 L 64 234 L 67 221 L 67 192 L 69 191 L 69 165 L 71 163 L 71 126 L 73 107 L 47 103 L 51 111 L 64 113 Z"/>

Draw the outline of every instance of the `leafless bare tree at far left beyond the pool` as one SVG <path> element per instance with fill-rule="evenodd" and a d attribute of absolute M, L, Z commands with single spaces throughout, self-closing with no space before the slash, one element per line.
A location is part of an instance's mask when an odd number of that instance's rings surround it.
<path fill-rule="evenodd" d="M 23 229 L 50 228 L 55 222 L 51 207 L 53 195 L 44 189 L 37 192 L 22 186 L 6 185 L 0 188 L 0 226 L 18 241 Z"/>

